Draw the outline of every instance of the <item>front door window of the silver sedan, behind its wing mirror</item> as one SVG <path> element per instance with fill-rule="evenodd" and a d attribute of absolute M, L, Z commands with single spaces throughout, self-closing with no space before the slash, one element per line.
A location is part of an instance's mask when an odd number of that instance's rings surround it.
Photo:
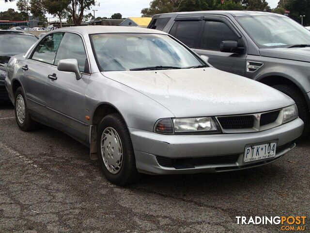
<path fill-rule="evenodd" d="M 78 67 L 81 72 L 89 73 L 87 56 L 84 49 L 82 38 L 75 33 L 65 33 L 59 46 L 54 65 L 62 59 L 78 60 Z"/>

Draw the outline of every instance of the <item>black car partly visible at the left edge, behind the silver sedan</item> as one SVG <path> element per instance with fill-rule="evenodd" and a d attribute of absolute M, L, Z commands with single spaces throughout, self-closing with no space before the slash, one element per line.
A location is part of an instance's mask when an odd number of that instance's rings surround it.
<path fill-rule="evenodd" d="M 11 56 L 25 53 L 37 41 L 32 34 L 20 31 L 0 31 L 0 101 L 9 101 L 4 85 L 6 67 Z"/>

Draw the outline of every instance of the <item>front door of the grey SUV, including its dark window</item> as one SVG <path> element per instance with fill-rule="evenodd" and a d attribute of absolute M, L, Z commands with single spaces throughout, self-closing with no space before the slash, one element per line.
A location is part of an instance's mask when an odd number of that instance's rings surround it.
<path fill-rule="evenodd" d="M 224 40 L 237 41 L 238 47 L 246 48 L 245 40 L 228 18 L 204 17 L 202 33 L 194 51 L 199 55 L 208 56 L 209 63 L 220 70 L 245 76 L 246 52 L 221 52 L 219 47 Z"/>

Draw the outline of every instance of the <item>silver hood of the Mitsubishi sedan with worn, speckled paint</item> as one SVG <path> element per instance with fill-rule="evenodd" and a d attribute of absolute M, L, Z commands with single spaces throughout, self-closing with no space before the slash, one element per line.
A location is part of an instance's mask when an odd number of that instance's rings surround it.
<path fill-rule="evenodd" d="M 272 87 L 213 67 L 102 74 L 157 101 L 176 117 L 257 113 L 294 104 Z"/>

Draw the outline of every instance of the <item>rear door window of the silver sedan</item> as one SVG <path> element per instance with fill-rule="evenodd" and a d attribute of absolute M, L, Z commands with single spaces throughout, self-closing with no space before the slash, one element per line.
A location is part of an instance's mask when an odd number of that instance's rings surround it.
<path fill-rule="evenodd" d="M 54 64 L 56 52 L 64 33 L 53 33 L 46 36 L 32 54 L 32 59 Z"/>

